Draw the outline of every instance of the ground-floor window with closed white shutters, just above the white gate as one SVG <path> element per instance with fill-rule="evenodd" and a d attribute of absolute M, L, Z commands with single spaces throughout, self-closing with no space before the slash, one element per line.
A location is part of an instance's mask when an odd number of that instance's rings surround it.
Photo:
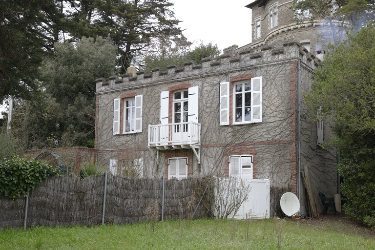
<path fill-rule="evenodd" d="M 252 155 L 229 156 L 229 175 L 252 179 Z"/>

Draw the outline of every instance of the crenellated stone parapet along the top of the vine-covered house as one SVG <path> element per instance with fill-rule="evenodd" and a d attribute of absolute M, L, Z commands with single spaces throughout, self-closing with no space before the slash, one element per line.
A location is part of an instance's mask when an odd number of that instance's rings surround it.
<path fill-rule="evenodd" d="M 285 60 L 296 60 L 302 58 L 302 62 L 314 69 L 320 62 L 315 55 L 308 52 L 299 42 L 287 41 L 279 47 L 263 45 L 259 51 L 252 48 L 236 52 L 237 45 L 224 50 L 219 60 L 203 58 L 202 63 L 194 61 L 184 63 L 178 67 L 176 64 L 167 65 L 167 70 L 160 67 L 151 69 L 151 72 L 140 70 L 136 76 L 131 73 L 122 76 L 111 76 L 109 79 L 99 78 L 96 80 L 96 91 L 106 92 L 127 87 L 139 87 L 140 85 L 165 83 L 168 81 L 179 81 L 184 79 L 202 78 L 210 75 L 224 74 L 228 71 L 235 72 L 243 68 L 256 68 L 265 63 Z"/>

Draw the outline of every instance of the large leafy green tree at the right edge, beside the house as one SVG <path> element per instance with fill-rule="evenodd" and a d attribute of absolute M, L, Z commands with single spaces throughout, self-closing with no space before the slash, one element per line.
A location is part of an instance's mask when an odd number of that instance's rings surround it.
<path fill-rule="evenodd" d="M 340 149 L 345 212 L 375 227 L 375 27 L 331 46 L 306 96 L 312 116 L 331 122 Z M 319 107 L 321 112 L 317 113 Z"/>

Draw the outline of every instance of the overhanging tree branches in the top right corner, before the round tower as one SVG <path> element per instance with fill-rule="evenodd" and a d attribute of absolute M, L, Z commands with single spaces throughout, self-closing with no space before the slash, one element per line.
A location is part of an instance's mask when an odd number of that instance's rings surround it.
<path fill-rule="evenodd" d="M 292 8 L 298 19 L 309 13 L 312 20 L 348 21 L 355 29 L 375 18 L 374 0 L 294 0 Z"/>

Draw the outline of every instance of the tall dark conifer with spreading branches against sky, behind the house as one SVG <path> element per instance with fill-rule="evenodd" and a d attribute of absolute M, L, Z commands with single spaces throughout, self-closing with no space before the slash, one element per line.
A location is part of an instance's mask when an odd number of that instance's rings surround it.
<path fill-rule="evenodd" d="M 69 1 L 67 19 L 75 25 L 69 30 L 74 38 L 110 36 L 121 56 L 125 73 L 134 56 L 159 52 L 163 41 L 186 41 L 169 9 L 169 0 L 80 0 Z"/>

